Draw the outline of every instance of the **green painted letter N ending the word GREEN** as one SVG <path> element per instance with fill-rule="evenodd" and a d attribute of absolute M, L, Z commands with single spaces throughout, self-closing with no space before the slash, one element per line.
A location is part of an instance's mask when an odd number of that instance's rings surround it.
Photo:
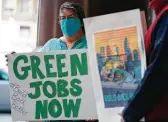
<path fill-rule="evenodd" d="M 80 75 L 87 75 L 88 74 L 88 64 L 87 64 L 87 54 L 81 54 L 81 61 L 77 54 L 70 56 L 71 61 L 71 76 L 77 76 L 77 69 Z"/>

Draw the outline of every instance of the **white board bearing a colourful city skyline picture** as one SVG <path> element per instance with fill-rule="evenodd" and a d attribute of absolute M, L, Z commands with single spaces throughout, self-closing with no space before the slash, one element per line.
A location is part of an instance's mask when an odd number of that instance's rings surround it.
<path fill-rule="evenodd" d="M 120 122 L 146 68 L 140 10 L 86 18 L 84 24 L 99 121 Z"/>

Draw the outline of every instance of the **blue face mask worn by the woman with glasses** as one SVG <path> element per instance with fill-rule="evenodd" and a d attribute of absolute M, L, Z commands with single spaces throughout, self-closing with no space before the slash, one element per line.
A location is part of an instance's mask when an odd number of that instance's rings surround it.
<path fill-rule="evenodd" d="M 81 29 L 81 22 L 77 18 L 68 18 L 60 21 L 64 36 L 73 36 Z"/>

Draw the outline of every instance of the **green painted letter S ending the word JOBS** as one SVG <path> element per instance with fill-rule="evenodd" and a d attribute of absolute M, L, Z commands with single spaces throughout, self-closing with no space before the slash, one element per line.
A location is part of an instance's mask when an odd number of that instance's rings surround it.
<path fill-rule="evenodd" d="M 79 79 L 73 79 L 71 81 L 72 88 L 70 88 L 70 93 L 74 97 L 80 96 L 82 94 L 82 88 L 79 86 L 79 84 L 81 84 Z"/>

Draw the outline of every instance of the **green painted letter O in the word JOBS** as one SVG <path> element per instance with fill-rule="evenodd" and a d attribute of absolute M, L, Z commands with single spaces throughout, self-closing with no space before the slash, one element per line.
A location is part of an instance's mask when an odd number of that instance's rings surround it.
<path fill-rule="evenodd" d="M 49 93 L 48 90 L 47 90 L 47 87 L 50 86 L 51 87 L 51 91 L 52 93 Z M 48 98 L 53 98 L 56 96 L 56 85 L 54 82 L 52 81 L 45 81 L 44 84 L 43 84 L 43 92 L 44 92 L 44 95 Z"/>

